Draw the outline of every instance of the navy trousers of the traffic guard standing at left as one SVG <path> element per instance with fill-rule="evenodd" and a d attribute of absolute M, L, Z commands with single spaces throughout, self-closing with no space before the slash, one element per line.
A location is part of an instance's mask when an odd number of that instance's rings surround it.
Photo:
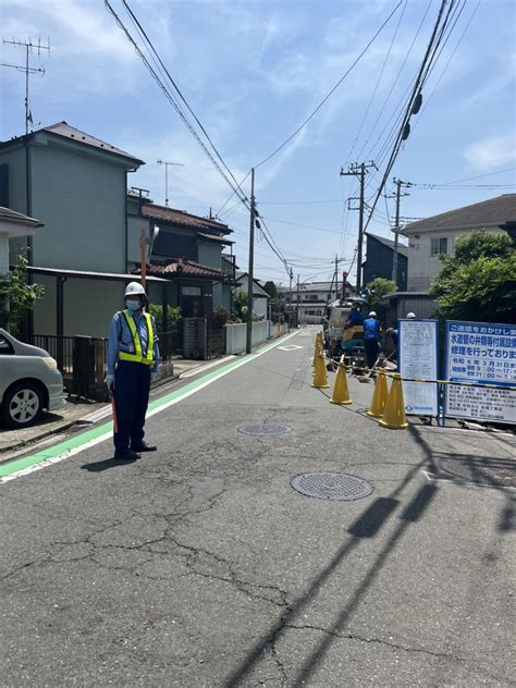
<path fill-rule="evenodd" d="M 119 431 L 114 449 L 125 452 L 138 447 L 145 437 L 145 414 L 149 404 L 150 366 L 119 360 L 114 373 L 114 402 Z"/>

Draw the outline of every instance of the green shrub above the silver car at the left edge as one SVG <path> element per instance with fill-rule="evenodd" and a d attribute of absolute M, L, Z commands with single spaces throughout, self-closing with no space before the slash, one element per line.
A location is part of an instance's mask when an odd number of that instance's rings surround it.
<path fill-rule="evenodd" d="M 22 315 L 33 310 L 35 303 L 45 295 L 41 284 L 27 284 L 28 265 L 25 253 L 20 253 L 10 278 L 0 280 L 0 310 L 5 329 L 17 330 Z"/>

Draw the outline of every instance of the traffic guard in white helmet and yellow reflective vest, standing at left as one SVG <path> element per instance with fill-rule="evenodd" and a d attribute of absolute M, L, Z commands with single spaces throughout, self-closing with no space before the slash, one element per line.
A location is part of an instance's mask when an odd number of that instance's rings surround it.
<path fill-rule="evenodd" d="M 135 459 L 140 452 L 157 450 L 144 440 L 150 382 L 159 361 L 156 322 L 145 312 L 146 299 L 142 284 L 127 284 L 125 309 L 114 314 L 109 329 L 106 385 L 115 401 L 115 458 Z"/>

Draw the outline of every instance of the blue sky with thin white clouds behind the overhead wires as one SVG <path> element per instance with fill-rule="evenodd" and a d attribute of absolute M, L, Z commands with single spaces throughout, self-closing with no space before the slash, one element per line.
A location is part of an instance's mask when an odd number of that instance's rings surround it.
<path fill-rule="evenodd" d="M 310 114 L 398 2 L 128 0 L 238 180 Z M 121 0 L 111 4 L 132 27 Z M 331 277 L 335 254 L 344 268 L 353 259 L 357 213 L 347 211 L 343 199 L 355 196 L 357 188 L 353 177 L 340 175 L 341 167 L 382 160 L 392 115 L 417 73 L 439 5 L 440 0 L 402 1 L 309 124 L 257 169 L 259 211 L 302 280 Z M 442 184 L 478 176 L 464 184 L 496 187 L 414 187 L 402 199 L 403 217 L 428 217 L 514 193 L 515 8 L 513 0 L 466 0 L 393 170 L 409 182 Z M 30 81 L 35 124 L 65 120 L 142 158 L 147 164 L 132 184 L 150 189 L 156 202 L 164 202 L 164 170 L 157 160 L 181 162 L 184 167 L 169 171 L 170 205 L 201 216 L 221 208 L 231 189 L 102 0 L 0 0 L 0 25 L 4 38 L 50 37 L 50 58 L 32 58 L 33 66 L 46 70 L 44 77 Z M 23 52 L 2 44 L 0 62 L 21 64 Z M 23 75 L 0 67 L 0 85 L 3 140 L 24 132 Z M 507 171 L 499 174 L 501 170 Z M 369 177 L 367 197 L 379 180 L 380 174 Z M 382 199 L 378 210 L 369 230 L 392 237 L 388 212 L 394 214 L 393 200 Z M 235 230 L 234 250 L 245 269 L 247 211 L 231 199 L 220 217 Z M 277 282 L 287 279 L 259 233 L 256 273 Z"/>

